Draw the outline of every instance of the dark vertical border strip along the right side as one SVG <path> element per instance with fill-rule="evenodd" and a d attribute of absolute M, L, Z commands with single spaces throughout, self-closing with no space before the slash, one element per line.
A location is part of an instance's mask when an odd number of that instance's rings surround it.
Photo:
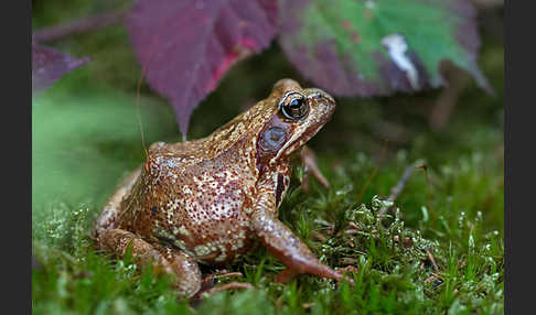
<path fill-rule="evenodd" d="M 505 314 L 534 313 L 534 1 L 505 3 Z M 521 4 L 533 4 L 524 6 Z M 515 6 L 515 7 L 514 7 Z M 517 42 L 517 43 L 515 43 Z M 514 265 L 515 264 L 515 265 Z"/>

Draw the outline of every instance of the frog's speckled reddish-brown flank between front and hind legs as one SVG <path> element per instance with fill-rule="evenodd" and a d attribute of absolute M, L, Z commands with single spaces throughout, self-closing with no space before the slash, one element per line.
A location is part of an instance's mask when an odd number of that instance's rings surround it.
<path fill-rule="evenodd" d="M 246 250 L 256 184 L 255 152 L 245 149 L 247 141 L 214 159 L 178 152 L 174 144 L 152 145 L 140 184 L 124 200 L 127 228 L 210 263 Z"/>

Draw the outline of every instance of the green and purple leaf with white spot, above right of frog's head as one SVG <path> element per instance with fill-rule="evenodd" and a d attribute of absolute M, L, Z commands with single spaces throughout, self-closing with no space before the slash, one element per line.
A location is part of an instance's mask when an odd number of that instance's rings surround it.
<path fill-rule="evenodd" d="M 476 65 L 475 13 L 468 0 L 280 0 L 279 42 L 307 78 L 335 95 L 440 87 L 442 61 L 491 93 Z"/>

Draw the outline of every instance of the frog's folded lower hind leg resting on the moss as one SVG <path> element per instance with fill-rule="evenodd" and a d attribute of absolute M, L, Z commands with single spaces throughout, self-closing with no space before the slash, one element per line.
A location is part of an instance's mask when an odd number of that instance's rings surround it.
<path fill-rule="evenodd" d="M 121 258 L 130 250 L 136 263 L 140 265 L 154 263 L 158 270 L 174 276 L 180 297 L 192 296 L 201 289 L 202 276 L 197 262 L 182 251 L 148 243 L 137 235 L 121 229 L 105 230 L 98 237 L 98 243 L 101 249 Z"/>

